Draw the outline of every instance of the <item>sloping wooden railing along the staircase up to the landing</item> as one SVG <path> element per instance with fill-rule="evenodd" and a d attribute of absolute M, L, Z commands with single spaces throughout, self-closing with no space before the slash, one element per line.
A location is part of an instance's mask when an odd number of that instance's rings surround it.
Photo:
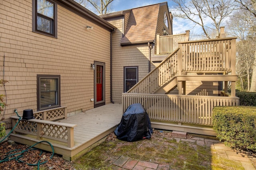
<path fill-rule="evenodd" d="M 169 57 L 162 61 L 154 70 L 146 77 L 134 85 L 127 93 L 154 93 L 172 77 L 177 74 L 178 66 L 178 49 L 176 49 Z"/>

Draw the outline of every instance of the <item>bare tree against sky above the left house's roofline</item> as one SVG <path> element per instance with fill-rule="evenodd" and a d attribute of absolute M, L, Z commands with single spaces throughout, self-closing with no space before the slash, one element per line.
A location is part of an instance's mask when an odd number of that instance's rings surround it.
<path fill-rule="evenodd" d="M 75 0 L 83 6 L 88 6 L 88 3 L 94 7 L 100 15 L 110 12 L 110 3 L 114 0 Z"/>

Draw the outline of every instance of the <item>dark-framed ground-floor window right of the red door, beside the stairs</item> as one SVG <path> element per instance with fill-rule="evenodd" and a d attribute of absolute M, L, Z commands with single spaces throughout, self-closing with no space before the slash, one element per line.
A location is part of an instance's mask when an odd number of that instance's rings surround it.
<path fill-rule="evenodd" d="M 138 82 L 138 66 L 124 67 L 124 92 Z"/>

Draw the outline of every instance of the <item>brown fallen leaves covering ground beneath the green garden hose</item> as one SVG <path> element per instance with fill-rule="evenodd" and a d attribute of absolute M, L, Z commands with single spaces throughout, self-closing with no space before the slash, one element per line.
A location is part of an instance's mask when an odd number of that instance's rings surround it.
<path fill-rule="evenodd" d="M 27 150 L 30 146 L 22 145 L 19 143 L 14 143 L 10 145 L 8 142 L 3 142 L 0 144 L 0 169 L 1 170 L 35 170 L 37 166 L 31 166 L 31 164 L 37 164 L 38 161 L 45 162 L 40 165 L 41 168 L 51 169 L 51 170 L 74 170 L 72 162 L 64 160 L 61 155 L 54 154 L 52 152 L 47 152 L 44 150 L 30 149 L 27 152 L 22 152 Z M 20 153 L 22 152 L 22 153 Z M 20 153 L 20 154 L 17 154 Z M 12 155 L 12 156 L 9 156 Z M 7 158 L 7 161 L 3 162 L 3 159 Z M 17 160 L 16 160 L 17 159 Z"/>

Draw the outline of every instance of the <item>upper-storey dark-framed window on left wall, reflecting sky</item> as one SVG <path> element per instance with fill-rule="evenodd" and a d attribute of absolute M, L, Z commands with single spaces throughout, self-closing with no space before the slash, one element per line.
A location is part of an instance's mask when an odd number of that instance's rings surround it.
<path fill-rule="evenodd" d="M 57 37 L 57 5 L 52 0 L 33 0 L 33 31 Z"/>

